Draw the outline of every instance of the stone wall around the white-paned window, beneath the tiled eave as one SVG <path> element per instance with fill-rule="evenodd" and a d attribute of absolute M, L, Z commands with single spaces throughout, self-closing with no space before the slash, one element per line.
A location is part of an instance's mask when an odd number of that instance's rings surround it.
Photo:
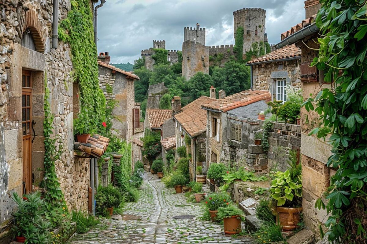
<path fill-rule="evenodd" d="M 276 100 L 277 78 L 286 78 L 287 85 L 301 88 L 301 60 L 271 62 L 252 65 L 252 86 L 254 89 L 269 90 Z"/>

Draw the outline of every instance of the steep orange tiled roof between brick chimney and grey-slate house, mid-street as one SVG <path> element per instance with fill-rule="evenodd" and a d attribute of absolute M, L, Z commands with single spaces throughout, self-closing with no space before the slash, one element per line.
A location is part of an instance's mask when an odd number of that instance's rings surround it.
<path fill-rule="evenodd" d="M 200 109 L 201 105 L 207 104 L 217 99 L 201 96 L 182 108 L 182 111 L 173 117 L 192 137 L 200 135 L 206 131 L 207 112 Z"/>

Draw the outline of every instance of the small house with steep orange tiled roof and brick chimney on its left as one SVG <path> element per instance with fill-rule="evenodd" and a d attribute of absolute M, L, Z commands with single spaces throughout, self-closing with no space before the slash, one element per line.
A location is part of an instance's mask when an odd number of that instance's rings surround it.
<path fill-rule="evenodd" d="M 207 112 L 201 105 L 216 101 L 213 97 L 201 96 L 195 101 L 181 108 L 181 98 L 172 99 L 172 116 L 175 121 L 176 146 L 186 146 L 188 154 L 191 154 L 189 162 L 190 180 L 195 180 L 196 166 L 203 166 L 206 171 L 206 143 L 207 143 Z M 186 145 L 185 136 L 191 139 L 190 145 Z"/>

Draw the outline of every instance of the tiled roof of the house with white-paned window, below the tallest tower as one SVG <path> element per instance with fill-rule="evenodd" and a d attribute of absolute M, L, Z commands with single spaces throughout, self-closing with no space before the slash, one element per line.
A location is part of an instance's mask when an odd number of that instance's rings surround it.
<path fill-rule="evenodd" d="M 296 45 L 292 44 L 289 46 L 285 46 L 284 48 L 275 50 L 274 52 L 268 53 L 265 56 L 250 60 L 247 62 L 247 64 L 255 64 L 266 61 L 272 62 L 279 59 L 286 59 L 290 57 L 301 57 L 301 49 L 297 48 Z"/>

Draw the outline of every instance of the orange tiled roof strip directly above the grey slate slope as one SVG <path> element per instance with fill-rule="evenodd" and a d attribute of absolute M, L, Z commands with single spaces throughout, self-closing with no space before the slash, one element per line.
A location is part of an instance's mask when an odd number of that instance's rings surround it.
<path fill-rule="evenodd" d="M 203 104 L 201 105 L 201 108 L 217 110 L 218 112 L 226 112 L 261 100 L 269 102 L 271 100 L 270 92 L 266 90 L 241 91 L 240 93 L 218 99 L 217 101 Z"/>

